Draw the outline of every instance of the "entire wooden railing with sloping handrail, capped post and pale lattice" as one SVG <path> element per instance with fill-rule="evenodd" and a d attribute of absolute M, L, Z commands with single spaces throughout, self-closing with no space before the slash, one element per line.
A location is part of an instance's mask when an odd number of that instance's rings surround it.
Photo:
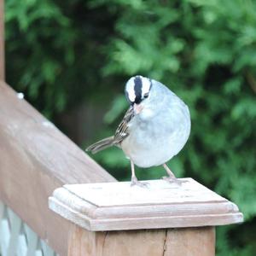
<path fill-rule="evenodd" d="M 0 0 L 0 255 L 212 256 L 214 226 L 242 221 L 192 179 L 117 183 L 4 82 L 3 63 Z"/>

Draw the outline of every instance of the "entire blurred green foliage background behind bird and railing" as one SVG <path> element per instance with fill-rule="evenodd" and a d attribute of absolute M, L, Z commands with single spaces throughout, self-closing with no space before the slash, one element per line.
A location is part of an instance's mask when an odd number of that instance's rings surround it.
<path fill-rule="evenodd" d="M 183 98 L 192 132 L 170 166 L 244 213 L 244 224 L 218 228 L 217 254 L 255 255 L 255 0 L 6 0 L 5 8 L 8 83 L 82 148 L 113 134 L 132 75 Z M 118 148 L 93 157 L 130 178 Z M 143 179 L 163 173 L 137 169 Z"/>

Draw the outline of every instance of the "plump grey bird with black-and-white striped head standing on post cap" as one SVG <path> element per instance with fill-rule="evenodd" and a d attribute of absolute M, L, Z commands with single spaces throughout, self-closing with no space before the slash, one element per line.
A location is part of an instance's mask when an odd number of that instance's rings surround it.
<path fill-rule="evenodd" d="M 166 162 L 178 154 L 190 134 L 188 106 L 166 85 L 141 75 L 131 77 L 125 84 L 130 108 L 114 135 L 96 142 L 86 151 L 97 152 L 117 146 L 131 161 L 131 186 L 147 186 L 138 181 L 135 165 L 143 168 L 163 166 L 170 183 L 179 183 Z"/>

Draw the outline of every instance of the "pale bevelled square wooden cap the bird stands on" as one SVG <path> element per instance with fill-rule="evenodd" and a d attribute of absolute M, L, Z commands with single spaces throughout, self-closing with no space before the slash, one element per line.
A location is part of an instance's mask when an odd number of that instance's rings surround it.
<path fill-rule="evenodd" d="M 64 185 L 49 208 L 86 230 L 140 230 L 241 223 L 238 207 L 192 178 Z"/>

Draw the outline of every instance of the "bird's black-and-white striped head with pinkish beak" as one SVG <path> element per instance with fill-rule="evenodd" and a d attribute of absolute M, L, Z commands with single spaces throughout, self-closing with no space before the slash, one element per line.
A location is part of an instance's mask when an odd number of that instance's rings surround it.
<path fill-rule="evenodd" d="M 143 105 L 149 97 L 151 87 L 151 79 L 139 75 L 132 77 L 126 83 L 125 96 L 133 106 L 135 113 L 140 113 L 143 110 Z"/>

